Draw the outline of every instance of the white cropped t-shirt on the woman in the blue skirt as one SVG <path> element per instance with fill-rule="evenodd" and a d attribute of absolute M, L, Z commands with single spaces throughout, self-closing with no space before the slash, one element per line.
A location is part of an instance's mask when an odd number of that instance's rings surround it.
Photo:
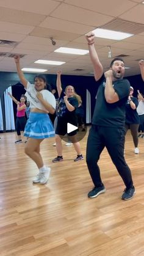
<path fill-rule="evenodd" d="M 27 87 L 25 89 L 26 89 L 27 101 L 30 102 L 31 108 L 38 108 L 48 112 L 36 96 L 37 90 L 35 89 L 35 85 L 30 84 L 30 82 L 27 82 Z M 49 92 L 49 90 L 41 90 L 40 93 L 43 95 L 43 100 L 47 101 L 49 104 L 51 104 L 51 106 L 54 109 L 56 109 L 56 99 L 54 95 L 51 92 Z"/>

